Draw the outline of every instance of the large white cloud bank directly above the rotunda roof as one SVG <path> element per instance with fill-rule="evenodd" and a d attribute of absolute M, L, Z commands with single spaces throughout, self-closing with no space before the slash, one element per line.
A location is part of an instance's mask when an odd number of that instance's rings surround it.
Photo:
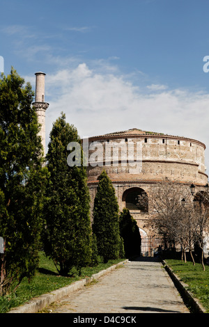
<path fill-rule="evenodd" d="M 105 66 L 105 65 L 104 65 Z M 134 86 L 122 74 L 86 63 L 45 78 L 47 142 L 52 122 L 63 111 L 79 135 L 95 136 L 137 127 L 194 138 L 208 146 L 209 95 L 189 90 Z M 206 166 L 209 154 L 206 150 Z"/>

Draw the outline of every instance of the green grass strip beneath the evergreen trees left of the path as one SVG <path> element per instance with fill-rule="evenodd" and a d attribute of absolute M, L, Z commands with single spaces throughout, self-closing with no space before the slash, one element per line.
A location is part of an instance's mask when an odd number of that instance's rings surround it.
<path fill-rule="evenodd" d="M 78 276 L 78 273 L 75 270 L 73 277 L 63 277 L 59 276 L 57 273 L 52 260 L 49 260 L 49 258 L 45 256 L 45 253 L 40 253 L 40 264 L 36 276 L 30 283 L 27 279 L 22 280 L 22 283 L 17 288 L 15 294 L 11 296 L 0 296 L 0 313 L 8 312 L 11 308 L 22 305 L 35 296 L 52 292 L 55 289 L 70 285 L 72 282 L 87 276 L 90 277 L 94 273 L 98 273 L 99 271 L 107 269 L 109 266 L 121 261 L 123 261 L 123 259 L 109 260 L 107 264 L 99 262 L 98 266 L 83 268 L 81 276 Z"/>

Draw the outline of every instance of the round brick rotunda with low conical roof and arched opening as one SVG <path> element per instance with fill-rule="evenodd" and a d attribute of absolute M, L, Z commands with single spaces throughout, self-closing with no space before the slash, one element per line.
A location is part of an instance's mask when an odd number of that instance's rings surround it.
<path fill-rule="evenodd" d="M 84 140 L 83 140 L 84 142 Z M 150 190 L 165 179 L 202 188 L 208 182 L 205 166 L 206 145 L 192 138 L 171 136 L 133 128 L 88 138 L 88 188 L 91 209 L 98 177 L 105 169 L 116 191 L 119 209 L 124 207 L 136 219 L 141 237 L 150 231 L 144 222 L 149 218 Z M 136 204 L 137 196 L 147 199 Z"/>

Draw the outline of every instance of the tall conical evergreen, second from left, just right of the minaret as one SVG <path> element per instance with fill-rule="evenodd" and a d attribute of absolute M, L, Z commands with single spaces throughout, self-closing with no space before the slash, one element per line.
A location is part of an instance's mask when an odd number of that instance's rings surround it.
<path fill-rule="evenodd" d="M 68 143 L 81 145 L 77 129 L 65 122 L 61 113 L 50 133 L 47 168 L 45 252 L 52 257 L 61 275 L 67 276 L 73 266 L 80 271 L 91 260 L 90 197 L 86 183 L 86 168 L 75 156 L 75 166 L 69 166 Z"/>

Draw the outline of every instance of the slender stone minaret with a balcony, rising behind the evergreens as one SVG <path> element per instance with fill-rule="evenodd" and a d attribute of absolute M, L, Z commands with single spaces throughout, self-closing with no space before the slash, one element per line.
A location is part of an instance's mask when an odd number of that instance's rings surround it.
<path fill-rule="evenodd" d="M 36 72 L 36 96 L 33 106 L 36 108 L 38 115 L 38 122 L 41 124 L 40 137 L 42 140 L 42 146 L 44 149 L 44 157 L 46 154 L 46 136 L 45 136 L 45 111 L 47 110 L 49 104 L 45 102 L 45 73 Z"/>

